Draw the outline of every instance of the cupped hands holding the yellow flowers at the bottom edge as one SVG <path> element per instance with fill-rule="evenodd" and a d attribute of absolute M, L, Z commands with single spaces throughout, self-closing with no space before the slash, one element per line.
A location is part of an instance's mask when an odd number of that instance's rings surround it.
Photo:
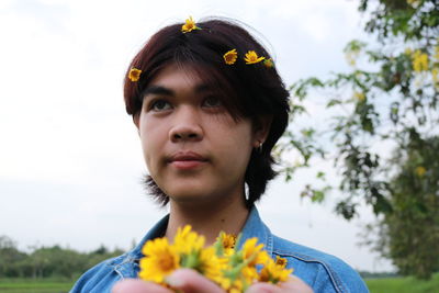
<path fill-rule="evenodd" d="M 175 289 L 184 293 L 224 293 L 224 290 L 207 280 L 200 273 L 181 269 L 167 278 L 167 282 Z M 167 288 L 151 282 L 145 282 L 138 279 L 127 279 L 116 283 L 112 290 L 113 293 L 173 293 Z M 296 277 L 291 277 L 288 282 L 280 285 L 269 283 L 256 283 L 251 285 L 246 293 L 313 293 L 313 290 Z"/>

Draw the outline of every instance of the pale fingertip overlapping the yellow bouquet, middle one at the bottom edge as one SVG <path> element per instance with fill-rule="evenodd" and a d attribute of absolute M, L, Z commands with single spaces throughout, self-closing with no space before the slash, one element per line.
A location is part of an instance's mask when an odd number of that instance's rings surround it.
<path fill-rule="evenodd" d="M 224 290 L 214 282 L 190 269 L 175 271 L 166 279 L 166 282 L 170 286 L 179 289 L 184 293 L 224 293 Z"/>

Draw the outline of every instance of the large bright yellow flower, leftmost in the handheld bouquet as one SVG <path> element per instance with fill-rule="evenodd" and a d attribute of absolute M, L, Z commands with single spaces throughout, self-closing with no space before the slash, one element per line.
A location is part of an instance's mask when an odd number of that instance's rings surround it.
<path fill-rule="evenodd" d="M 145 255 L 139 263 L 142 280 L 164 283 L 166 277 L 180 268 L 180 256 L 167 238 L 147 241 L 142 252 Z"/>

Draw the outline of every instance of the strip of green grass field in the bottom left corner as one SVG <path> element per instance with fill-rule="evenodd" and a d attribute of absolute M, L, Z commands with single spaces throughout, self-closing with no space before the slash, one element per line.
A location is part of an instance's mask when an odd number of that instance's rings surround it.
<path fill-rule="evenodd" d="M 63 280 L 0 279 L 0 292 L 5 293 L 66 293 L 72 285 Z"/>

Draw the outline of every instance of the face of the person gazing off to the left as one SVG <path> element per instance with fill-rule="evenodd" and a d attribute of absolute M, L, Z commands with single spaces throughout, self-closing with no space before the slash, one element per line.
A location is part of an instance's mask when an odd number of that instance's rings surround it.
<path fill-rule="evenodd" d="M 189 67 L 165 67 L 135 117 L 147 168 L 172 202 L 244 196 L 244 178 L 263 134 L 235 121 Z"/>

